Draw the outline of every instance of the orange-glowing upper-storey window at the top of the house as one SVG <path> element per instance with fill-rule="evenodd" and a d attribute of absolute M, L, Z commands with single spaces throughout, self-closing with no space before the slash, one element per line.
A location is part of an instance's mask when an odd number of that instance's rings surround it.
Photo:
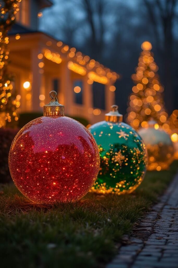
<path fill-rule="evenodd" d="M 30 26 L 30 2 L 23 0 L 19 2 L 19 12 L 17 12 L 15 19 L 18 23 Z"/>

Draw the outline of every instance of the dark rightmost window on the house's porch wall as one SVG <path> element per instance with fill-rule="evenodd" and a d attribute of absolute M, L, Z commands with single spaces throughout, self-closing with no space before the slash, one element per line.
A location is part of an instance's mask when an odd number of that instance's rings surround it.
<path fill-rule="evenodd" d="M 93 107 L 105 110 L 105 85 L 93 83 Z"/>

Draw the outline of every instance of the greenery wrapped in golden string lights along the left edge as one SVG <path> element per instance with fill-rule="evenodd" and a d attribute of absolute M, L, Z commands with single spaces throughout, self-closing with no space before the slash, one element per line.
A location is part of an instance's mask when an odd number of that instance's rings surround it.
<path fill-rule="evenodd" d="M 0 127 L 17 125 L 17 109 L 20 106 L 20 95 L 13 90 L 13 77 L 7 71 L 9 38 L 7 32 L 15 21 L 21 0 L 6 0 L 0 4 Z"/>

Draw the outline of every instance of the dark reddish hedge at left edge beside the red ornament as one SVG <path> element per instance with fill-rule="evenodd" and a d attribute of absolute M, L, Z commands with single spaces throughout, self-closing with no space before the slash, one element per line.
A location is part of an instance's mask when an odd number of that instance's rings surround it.
<path fill-rule="evenodd" d="M 0 128 L 0 183 L 11 181 L 8 156 L 11 143 L 17 132 L 18 129 Z"/>

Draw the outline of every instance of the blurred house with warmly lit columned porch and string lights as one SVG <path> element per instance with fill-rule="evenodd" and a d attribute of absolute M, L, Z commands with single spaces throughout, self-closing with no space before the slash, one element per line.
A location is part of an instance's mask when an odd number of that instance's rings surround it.
<path fill-rule="evenodd" d="M 88 55 L 38 31 L 41 9 L 49 0 L 20 2 L 16 23 L 9 36 L 9 71 L 21 95 L 20 111 L 43 110 L 55 90 L 65 114 L 80 116 L 93 124 L 104 119 L 114 104 L 114 83 L 119 75 Z"/>

